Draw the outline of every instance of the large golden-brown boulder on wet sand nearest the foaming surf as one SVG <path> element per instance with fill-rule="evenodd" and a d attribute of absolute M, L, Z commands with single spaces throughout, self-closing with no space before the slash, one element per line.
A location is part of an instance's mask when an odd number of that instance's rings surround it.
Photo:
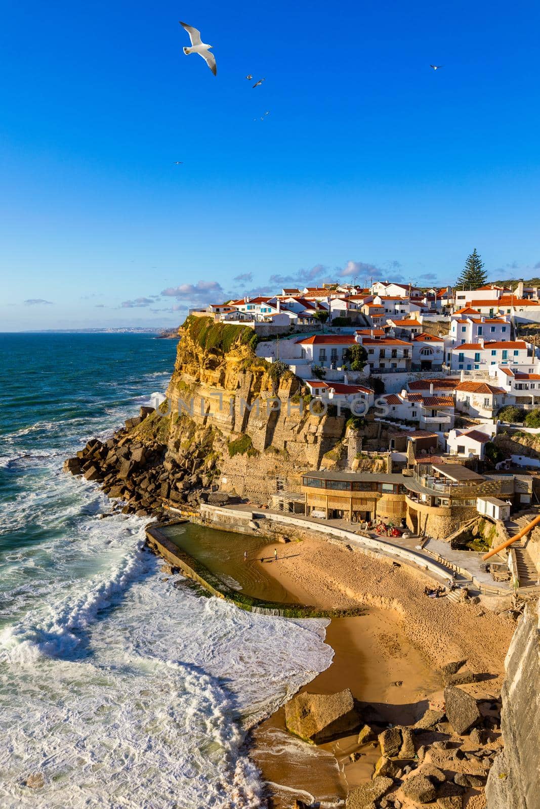
<path fill-rule="evenodd" d="M 303 692 L 285 705 L 285 722 L 300 739 L 321 744 L 354 731 L 359 714 L 349 688 L 335 694 Z"/>

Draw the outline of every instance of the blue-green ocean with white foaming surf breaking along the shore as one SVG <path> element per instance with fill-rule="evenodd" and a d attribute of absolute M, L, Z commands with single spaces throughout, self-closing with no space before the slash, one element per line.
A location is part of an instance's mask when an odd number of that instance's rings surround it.
<path fill-rule="evenodd" d="M 175 353 L 147 334 L 0 335 L 2 809 L 256 809 L 246 730 L 330 665 L 325 621 L 165 577 L 148 520 L 100 519 L 108 498 L 62 472 L 164 392 Z"/>

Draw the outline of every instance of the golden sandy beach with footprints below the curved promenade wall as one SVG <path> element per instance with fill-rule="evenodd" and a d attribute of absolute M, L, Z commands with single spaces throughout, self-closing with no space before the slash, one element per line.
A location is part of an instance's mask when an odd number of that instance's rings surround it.
<path fill-rule="evenodd" d="M 273 561 L 274 549 L 278 561 Z M 312 537 L 291 544 L 270 544 L 266 557 L 253 561 L 276 578 L 300 602 L 321 608 L 363 604 L 364 616 L 331 621 L 326 642 L 334 661 L 311 683 L 310 693 L 342 688 L 361 703 L 372 705 L 386 721 L 410 724 L 428 706 L 442 705 L 444 663 L 466 659 L 467 667 L 484 676 L 466 689 L 478 698 L 498 695 L 504 656 L 514 622 L 483 604 L 454 604 L 429 599 L 424 587 L 432 579 L 421 570 L 385 557 L 351 551 L 342 544 Z M 261 768 L 276 809 L 291 807 L 295 798 L 321 803 L 343 801 L 347 791 L 372 777 L 380 756 L 376 748 L 358 751 L 356 736 L 314 748 L 287 733 L 279 709 L 254 733 L 253 759 Z M 479 807 L 482 795 L 467 806 Z"/>

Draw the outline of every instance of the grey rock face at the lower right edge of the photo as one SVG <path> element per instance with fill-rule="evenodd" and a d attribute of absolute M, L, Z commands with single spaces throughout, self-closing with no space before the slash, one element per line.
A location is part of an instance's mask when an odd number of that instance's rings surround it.
<path fill-rule="evenodd" d="M 487 809 L 540 805 L 540 637 L 538 612 L 525 608 L 504 663 L 501 697 L 504 750 L 486 785 Z"/>

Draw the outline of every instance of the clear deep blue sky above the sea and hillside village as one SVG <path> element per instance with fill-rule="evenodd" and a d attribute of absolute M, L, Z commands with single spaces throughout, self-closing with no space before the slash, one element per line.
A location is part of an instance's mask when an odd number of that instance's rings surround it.
<path fill-rule="evenodd" d="M 539 23 L 519 0 L 6 4 L 0 331 L 174 325 L 282 278 L 446 284 L 474 247 L 537 275 Z"/>

